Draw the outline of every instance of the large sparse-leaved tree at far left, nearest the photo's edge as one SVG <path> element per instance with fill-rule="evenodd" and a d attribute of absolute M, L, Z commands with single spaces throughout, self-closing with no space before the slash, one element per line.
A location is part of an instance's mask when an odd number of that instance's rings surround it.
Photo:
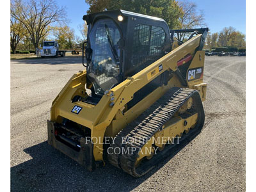
<path fill-rule="evenodd" d="M 66 22 L 66 11 L 55 0 L 12 0 L 11 17 L 24 25 L 36 49 L 54 24 Z"/>

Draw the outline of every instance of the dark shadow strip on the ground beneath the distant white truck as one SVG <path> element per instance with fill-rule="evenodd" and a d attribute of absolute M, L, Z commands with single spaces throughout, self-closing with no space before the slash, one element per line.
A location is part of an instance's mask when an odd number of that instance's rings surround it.
<path fill-rule="evenodd" d="M 31 59 L 22 59 L 22 60 L 11 60 L 14 62 L 19 62 L 19 64 L 41 64 L 41 65 L 67 65 L 67 64 L 81 64 L 82 56 L 65 56 L 58 58 L 31 58 Z"/>

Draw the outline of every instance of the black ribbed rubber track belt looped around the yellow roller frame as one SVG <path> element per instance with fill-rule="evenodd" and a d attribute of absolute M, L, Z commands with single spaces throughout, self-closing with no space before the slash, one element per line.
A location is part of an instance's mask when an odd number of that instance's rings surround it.
<path fill-rule="evenodd" d="M 163 151 L 157 152 L 152 159 L 143 161 L 136 168 L 135 162 L 138 153 L 143 145 L 147 143 L 147 139 L 152 138 L 157 131 L 161 131 L 163 125 L 179 111 L 179 108 L 190 97 L 193 98 L 193 108 L 198 113 L 196 127 L 190 129 L 188 134 L 183 134 L 179 140 L 179 145 L 166 145 Z M 160 99 L 154 102 L 150 108 L 115 136 L 115 142 L 109 148 L 108 161 L 133 177 L 141 177 L 152 170 L 164 158 L 170 156 L 175 148 L 182 145 L 185 146 L 189 141 L 193 140 L 200 133 L 204 125 L 204 118 L 204 108 L 198 91 L 188 88 L 171 88 Z M 136 148 L 135 152 L 131 152 L 132 147 Z M 121 151 L 123 149 L 127 153 L 115 154 L 115 148 L 120 148 Z M 119 149 L 116 151 L 119 151 Z"/>

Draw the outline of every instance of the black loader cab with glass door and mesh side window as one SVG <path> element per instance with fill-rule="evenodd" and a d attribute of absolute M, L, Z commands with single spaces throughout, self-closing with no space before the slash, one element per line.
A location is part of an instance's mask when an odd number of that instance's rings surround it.
<path fill-rule="evenodd" d="M 102 96 L 171 50 L 163 19 L 116 10 L 84 15 L 83 20 L 88 24 L 86 70 L 92 94 Z"/>

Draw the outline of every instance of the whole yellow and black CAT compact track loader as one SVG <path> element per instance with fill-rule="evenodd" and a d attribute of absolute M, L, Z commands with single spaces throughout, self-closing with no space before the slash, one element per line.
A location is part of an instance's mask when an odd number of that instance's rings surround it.
<path fill-rule="evenodd" d="M 208 29 L 170 30 L 124 10 L 83 20 L 86 69 L 52 102 L 48 142 L 88 170 L 109 162 L 140 177 L 204 125 Z"/>

